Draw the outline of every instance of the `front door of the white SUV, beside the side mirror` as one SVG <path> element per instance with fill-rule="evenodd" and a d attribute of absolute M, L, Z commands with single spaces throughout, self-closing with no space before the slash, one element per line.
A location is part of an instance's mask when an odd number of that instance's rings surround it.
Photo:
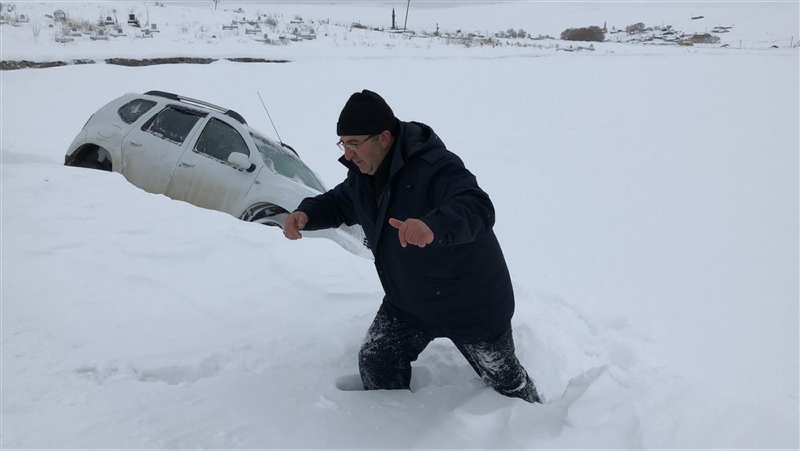
<path fill-rule="evenodd" d="M 263 164 L 256 168 L 236 168 L 228 163 L 233 152 L 249 158 L 251 149 L 247 140 L 231 124 L 210 117 L 191 150 L 181 155 L 167 196 L 238 216 L 247 207 L 247 193 Z"/>

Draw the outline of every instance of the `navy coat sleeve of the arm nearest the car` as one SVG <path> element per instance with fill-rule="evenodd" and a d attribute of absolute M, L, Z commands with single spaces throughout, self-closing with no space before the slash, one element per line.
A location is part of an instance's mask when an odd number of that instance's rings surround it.
<path fill-rule="evenodd" d="M 303 199 L 296 211 L 302 211 L 308 216 L 305 230 L 331 229 L 342 224 L 348 226 L 357 224 L 358 218 L 353 209 L 351 193 L 351 182 L 345 180 L 326 193 Z"/>

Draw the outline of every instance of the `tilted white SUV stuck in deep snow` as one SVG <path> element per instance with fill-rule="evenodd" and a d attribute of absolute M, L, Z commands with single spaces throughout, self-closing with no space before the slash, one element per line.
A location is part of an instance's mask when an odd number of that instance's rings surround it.
<path fill-rule="evenodd" d="M 125 94 L 100 108 L 64 164 L 119 172 L 145 191 L 281 228 L 304 198 L 326 191 L 294 149 L 237 112 L 161 91 Z M 304 235 L 372 258 L 358 225 Z"/>

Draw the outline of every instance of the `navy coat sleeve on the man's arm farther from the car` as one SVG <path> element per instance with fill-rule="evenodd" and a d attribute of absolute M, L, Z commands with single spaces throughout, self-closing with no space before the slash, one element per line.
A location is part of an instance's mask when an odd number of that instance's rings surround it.
<path fill-rule="evenodd" d="M 494 205 L 458 157 L 435 165 L 429 196 L 434 208 L 420 218 L 433 231 L 433 245 L 471 243 L 494 226 Z"/>

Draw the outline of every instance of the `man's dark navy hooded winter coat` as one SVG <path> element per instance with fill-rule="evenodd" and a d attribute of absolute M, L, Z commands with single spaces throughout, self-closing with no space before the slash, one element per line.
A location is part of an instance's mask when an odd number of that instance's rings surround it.
<path fill-rule="evenodd" d="M 499 336 L 510 327 L 514 293 L 492 231 L 494 206 L 430 127 L 399 127 L 383 196 L 376 196 L 372 176 L 342 157 L 347 179 L 298 207 L 309 218 L 305 229 L 361 224 L 384 303 L 418 328 L 466 342 Z M 433 243 L 401 247 L 389 218 L 422 220 L 433 231 Z"/>

